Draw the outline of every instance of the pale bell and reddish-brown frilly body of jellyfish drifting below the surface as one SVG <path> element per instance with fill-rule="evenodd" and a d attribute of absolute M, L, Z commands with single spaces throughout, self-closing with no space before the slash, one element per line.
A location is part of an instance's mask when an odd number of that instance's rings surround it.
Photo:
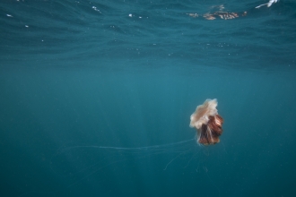
<path fill-rule="evenodd" d="M 218 115 L 217 105 L 217 99 L 206 99 L 190 116 L 190 127 L 196 127 L 198 143 L 213 145 L 220 141 L 223 118 Z"/>

